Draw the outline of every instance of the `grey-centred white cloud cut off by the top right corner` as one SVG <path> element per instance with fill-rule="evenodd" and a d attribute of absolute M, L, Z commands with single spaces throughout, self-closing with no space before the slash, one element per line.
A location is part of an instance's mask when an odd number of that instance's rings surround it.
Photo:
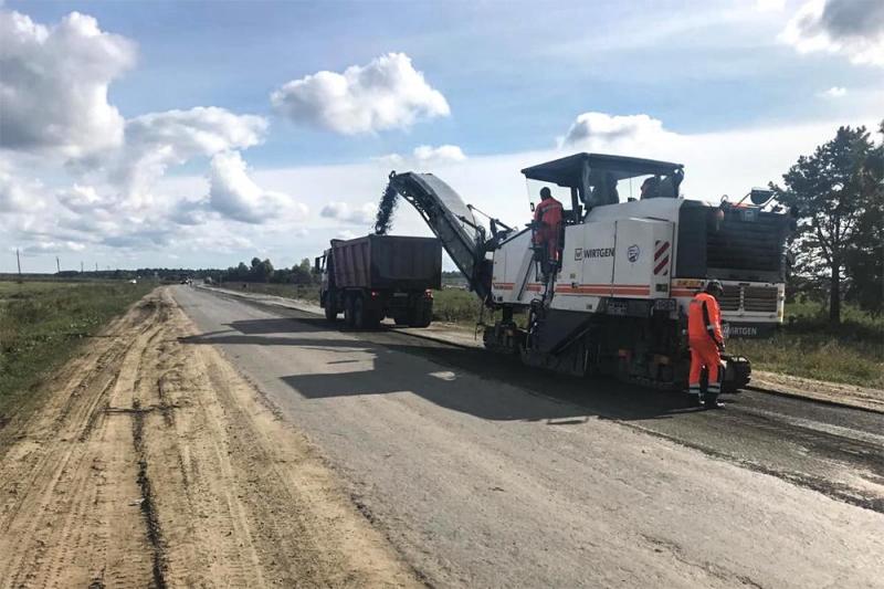
<path fill-rule="evenodd" d="M 884 66 L 884 2 L 809 0 L 779 39 L 799 53 L 824 51 L 846 55 L 855 64 Z"/>

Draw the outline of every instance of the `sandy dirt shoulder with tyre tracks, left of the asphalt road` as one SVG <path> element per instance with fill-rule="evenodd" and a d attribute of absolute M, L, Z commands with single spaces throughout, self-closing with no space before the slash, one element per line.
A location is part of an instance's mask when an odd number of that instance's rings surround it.
<path fill-rule="evenodd" d="M 0 443 L 0 586 L 419 585 L 309 442 L 148 295 Z"/>

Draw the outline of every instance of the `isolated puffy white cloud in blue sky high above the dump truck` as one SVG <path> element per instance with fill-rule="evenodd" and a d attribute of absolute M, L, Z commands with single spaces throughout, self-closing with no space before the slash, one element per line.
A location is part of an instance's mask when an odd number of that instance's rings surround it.
<path fill-rule="evenodd" d="M 271 103 L 295 123 L 343 135 L 408 128 L 451 112 L 404 53 L 351 65 L 343 74 L 323 71 L 293 80 L 271 94 Z"/>

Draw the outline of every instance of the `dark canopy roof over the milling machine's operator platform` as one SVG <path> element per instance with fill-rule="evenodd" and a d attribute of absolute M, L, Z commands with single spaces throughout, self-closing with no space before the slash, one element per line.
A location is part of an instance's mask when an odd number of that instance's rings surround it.
<path fill-rule="evenodd" d="M 577 189 L 580 200 L 589 207 L 596 207 L 619 202 L 617 182 L 639 176 L 660 178 L 659 189 L 651 198 L 677 198 L 684 166 L 655 159 L 575 154 L 525 168 L 522 173 L 530 180 Z"/>

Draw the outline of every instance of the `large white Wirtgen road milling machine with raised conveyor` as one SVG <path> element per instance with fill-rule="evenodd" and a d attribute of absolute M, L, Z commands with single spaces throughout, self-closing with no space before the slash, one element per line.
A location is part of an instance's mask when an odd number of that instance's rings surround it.
<path fill-rule="evenodd" d="M 601 154 L 522 173 L 565 207 L 557 260 L 536 243 L 535 223 L 486 224 L 431 173 L 391 172 L 385 193 L 418 210 L 496 312 L 493 325 L 483 325 L 486 348 L 538 368 L 682 390 L 691 361 L 687 306 L 707 281 L 724 285 L 726 337 L 764 337 L 782 323 L 785 243 L 794 219 L 770 191 L 713 206 L 682 198 L 682 165 Z M 650 189 L 640 193 L 642 185 Z M 723 391 L 747 385 L 749 360 L 723 358 Z"/>

